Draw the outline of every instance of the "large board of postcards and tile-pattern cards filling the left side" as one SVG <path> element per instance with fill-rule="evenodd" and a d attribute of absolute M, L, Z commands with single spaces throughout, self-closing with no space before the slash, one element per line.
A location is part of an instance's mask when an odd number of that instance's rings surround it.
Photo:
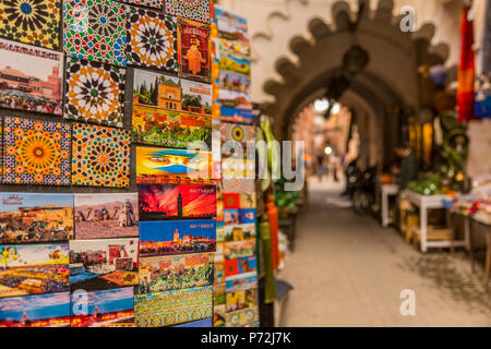
<path fill-rule="evenodd" d="M 26 3 L 0 2 L 0 326 L 212 326 L 209 0 Z"/>

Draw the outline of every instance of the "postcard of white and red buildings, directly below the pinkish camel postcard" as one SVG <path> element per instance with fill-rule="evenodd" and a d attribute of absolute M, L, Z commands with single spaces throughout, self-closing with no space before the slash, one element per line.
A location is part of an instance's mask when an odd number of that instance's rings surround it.
<path fill-rule="evenodd" d="M 70 288 L 101 290 L 137 285 L 139 239 L 70 241 Z"/>

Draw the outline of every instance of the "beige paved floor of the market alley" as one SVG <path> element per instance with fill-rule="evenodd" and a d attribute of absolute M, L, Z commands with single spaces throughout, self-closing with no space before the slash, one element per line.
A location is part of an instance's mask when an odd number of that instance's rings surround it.
<path fill-rule="evenodd" d="M 422 254 L 338 204 L 340 185 L 309 186 L 296 250 L 278 275 L 294 286 L 280 326 L 491 326 L 491 290 L 465 252 Z M 414 316 L 400 314 L 405 289 L 415 291 Z"/>

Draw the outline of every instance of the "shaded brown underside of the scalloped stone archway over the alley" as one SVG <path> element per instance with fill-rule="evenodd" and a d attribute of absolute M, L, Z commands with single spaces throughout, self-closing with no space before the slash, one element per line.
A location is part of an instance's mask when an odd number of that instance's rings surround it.
<path fill-rule="evenodd" d="M 297 62 L 277 59 L 275 68 L 282 80 L 268 80 L 263 86 L 274 97 L 264 105 L 264 111 L 275 119 L 274 131 L 279 139 L 289 137 L 292 119 L 325 91 L 328 77 L 339 74 L 343 55 L 354 45 L 368 52 L 370 62 L 350 81 L 349 93 L 340 98 L 344 105 L 374 116 L 376 120 L 371 121 L 383 129 L 384 135 L 391 135 L 387 108 L 417 110 L 431 105 L 434 87 L 420 76 L 418 68 L 444 63 L 448 47 L 430 44 L 435 32 L 432 24 L 416 33 L 403 33 L 400 17 L 393 16 L 392 11 L 392 0 L 380 0 L 376 10 L 360 14 L 358 28 L 351 32 L 349 26 L 357 13 L 345 1 L 338 1 L 332 7 L 332 25 L 313 19 L 309 23 L 312 39 L 290 39 Z M 357 106 L 360 99 L 366 101 L 362 108 Z"/>

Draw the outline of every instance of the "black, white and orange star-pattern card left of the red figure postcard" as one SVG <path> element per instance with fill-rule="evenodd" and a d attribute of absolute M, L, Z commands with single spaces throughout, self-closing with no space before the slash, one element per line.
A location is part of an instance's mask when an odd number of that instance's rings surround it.
<path fill-rule="evenodd" d="M 128 7 L 128 62 L 177 71 L 177 22 L 152 10 Z"/>

